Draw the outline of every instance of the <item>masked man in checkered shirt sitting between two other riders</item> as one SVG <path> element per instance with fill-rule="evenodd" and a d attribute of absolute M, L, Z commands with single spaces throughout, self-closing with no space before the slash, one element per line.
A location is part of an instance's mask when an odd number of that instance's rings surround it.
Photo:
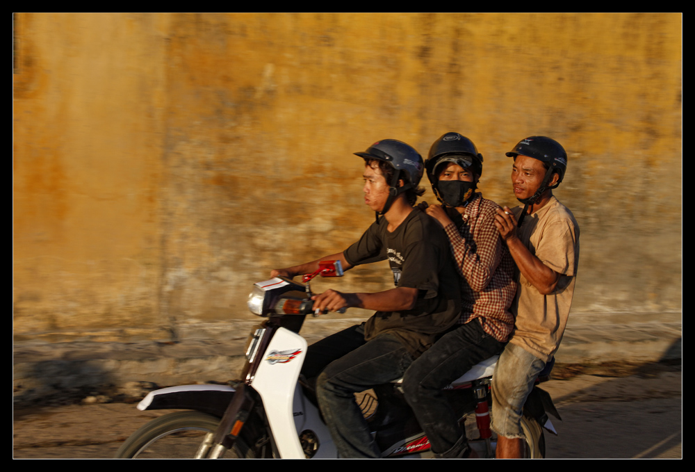
<path fill-rule="evenodd" d="M 498 204 L 475 193 L 482 155 L 459 133 L 445 133 L 425 161 L 439 205 L 420 204 L 443 227 L 461 275 L 460 325 L 439 339 L 406 371 L 405 397 L 427 434 L 435 457 L 477 457 L 443 397 L 443 387 L 475 364 L 498 354 L 514 328 L 514 260 L 495 226 Z"/>

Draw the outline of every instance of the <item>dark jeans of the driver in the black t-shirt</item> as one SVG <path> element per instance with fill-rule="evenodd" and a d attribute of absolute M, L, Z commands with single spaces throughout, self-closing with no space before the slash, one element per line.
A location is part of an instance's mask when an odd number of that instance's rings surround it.
<path fill-rule="evenodd" d="M 365 341 L 363 325 L 309 346 L 302 373 L 313 377 L 320 372 L 316 396 L 341 457 L 381 456 L 354 393 L 399 379 L 412 361 L 405 346 L 388 333 Z"/>

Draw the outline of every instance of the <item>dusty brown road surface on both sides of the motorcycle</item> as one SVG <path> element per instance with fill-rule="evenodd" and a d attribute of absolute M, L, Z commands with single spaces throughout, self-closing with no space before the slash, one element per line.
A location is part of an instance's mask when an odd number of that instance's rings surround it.
<path fill-rule="evenodd" d="M 546 432 L 548 458 L 682 457 L 680 366 L 564 366 L 543 389 L 562 416 L 551 417 L 559 434 Z M 15 408 L 13 457 L 111 458 L 140 425 L 167 413 L 99 401 Z"/>

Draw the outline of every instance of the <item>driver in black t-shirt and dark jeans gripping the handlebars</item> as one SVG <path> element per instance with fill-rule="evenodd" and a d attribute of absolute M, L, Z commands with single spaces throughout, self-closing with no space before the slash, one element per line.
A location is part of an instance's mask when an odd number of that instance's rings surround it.
<path fill-rule="evenodd" d="M 315 295 L 318 311 L 373 309 L 365 323 L 309 346 L 302 375 L 316 377 L 316 394 L 341 457 L 380 457 L 354 393 L 402 377 L 436 335 L 457 323 L 461 294 L 441 227 L 414 204 L 424 190 L 423 159 L 398 140 L 382 140 L 366 152 L 363 193 L 377 220 L 343 252 L 271 275 L 311 273 L 318 262 L 337 259 L 345 270 L 388 260 L 395 288 L 378 293 L 326 291 Z M 378 215 L 381 215 L 379 218 Z"/>

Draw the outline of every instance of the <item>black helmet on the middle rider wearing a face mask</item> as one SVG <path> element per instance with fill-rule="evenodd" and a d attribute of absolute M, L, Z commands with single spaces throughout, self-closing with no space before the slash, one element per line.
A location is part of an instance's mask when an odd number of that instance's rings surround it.
<path fill-rule="evenodd" d="M 435 172 L 439 164 L 452 162 L 461 168 L 471 168 L 474 174 L 482 174 L 482 154 L 477 152 L 473 141 L 459 133 L 444 133 L 430 147 L 430 154 L 425 161 L 427 178 L 432 186 L 439 180 L 439 174 Z"/>

